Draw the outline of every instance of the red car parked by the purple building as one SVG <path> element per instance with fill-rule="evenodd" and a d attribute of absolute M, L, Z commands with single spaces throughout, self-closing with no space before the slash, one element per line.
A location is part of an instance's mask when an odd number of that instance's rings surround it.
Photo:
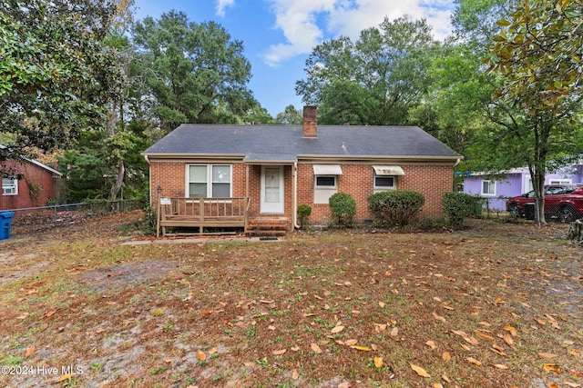
<path fill-rule="evenodd" d="M 506 210 L 515 216 L 528 216 L 525 205 L 535 204 L 535 191 L 518 195 L 506 201 Z M 534 208 L 533 208 L 534 209 Z M 534 217 L 534 211 L 532 211 Z M 583 215 L 583 186 L 574 184 L 551 184 L 545 186 L 545 216 L 566 223 Z M 528 216 L 527 218 L 531 218 Z"/>

